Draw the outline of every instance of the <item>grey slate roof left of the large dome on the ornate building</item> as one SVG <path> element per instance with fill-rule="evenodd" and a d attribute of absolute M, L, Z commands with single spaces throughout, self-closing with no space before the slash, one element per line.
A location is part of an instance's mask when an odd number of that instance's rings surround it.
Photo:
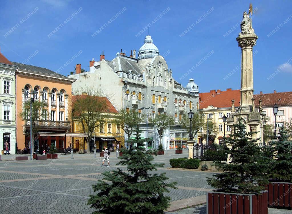
<path fill-rule="evenodd" d="M 135 74 L 141 74 L 141 70 L 138 66 L 137 61 L 119 56 L 114 58 L 112 62 L 114 62 L 114 64 L 116 65 L 117 71 L 129 72 L 129 70 L 131 70 Z"/>

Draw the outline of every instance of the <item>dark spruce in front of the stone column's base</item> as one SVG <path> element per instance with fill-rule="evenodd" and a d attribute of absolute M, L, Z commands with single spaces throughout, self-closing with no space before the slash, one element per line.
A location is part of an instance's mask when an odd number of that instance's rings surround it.
<path fill-rule="evenodd" d="M 231 162 L 226 164 L 214 161 L 213 165 L 223 173 L 213 175 L 207 182 L 223 192 L 260 193 L 265 189 L 261 185 L 267 184 L 267 179 L 263 176 L 267 158 L 260 156 L 260 147 L 256 144 L 259 139 L 252 138 L 254 132 L 246 133 L 242 119 L 235 125 L 235 130 L 236 132 L 224 141 L 232 148 L 223 147 L 223 151 L 230 155 Z"/>

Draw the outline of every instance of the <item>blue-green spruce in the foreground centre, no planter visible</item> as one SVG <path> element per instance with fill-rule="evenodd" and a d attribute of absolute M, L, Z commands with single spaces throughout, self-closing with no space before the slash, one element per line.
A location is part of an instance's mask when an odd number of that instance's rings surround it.
<path fill-rule="evenodd" d="M 95 195 L 88 199 L 88 205 L 95 208 L 97 214 L 156 214 L 164 213 L 170 206 L 170 197 L 164 196 L 169 192 L 168 187 L 176 188 L 173 183 L 167 183 L 165 173 L 158 175 L 148 171 L 157 170 L 164 164 L 152 164 L 153 156 L 147 154 L 144 149 L 145 140 L 140 138 L 140 130 L 137 128 L 131 150 L 124 150 L 121 161 L 118 164 L 126 165 L 128 172 L 121 169 L 102 173 L 103 180 L 98 180 L 93 185 Z M 111 183 L 105 182 L 109 181 Z"/>

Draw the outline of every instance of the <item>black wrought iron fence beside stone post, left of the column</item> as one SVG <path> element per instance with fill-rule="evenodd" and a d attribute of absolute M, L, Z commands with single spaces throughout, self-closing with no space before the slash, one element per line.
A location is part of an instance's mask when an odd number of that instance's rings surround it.
<path fill-rule="evenodd" d="M 193 158 L 204 161 L 227 161 L 227 154 L 222 150 L 222 146 L 218 144 L 197 144 L 193 146 Z"/>

